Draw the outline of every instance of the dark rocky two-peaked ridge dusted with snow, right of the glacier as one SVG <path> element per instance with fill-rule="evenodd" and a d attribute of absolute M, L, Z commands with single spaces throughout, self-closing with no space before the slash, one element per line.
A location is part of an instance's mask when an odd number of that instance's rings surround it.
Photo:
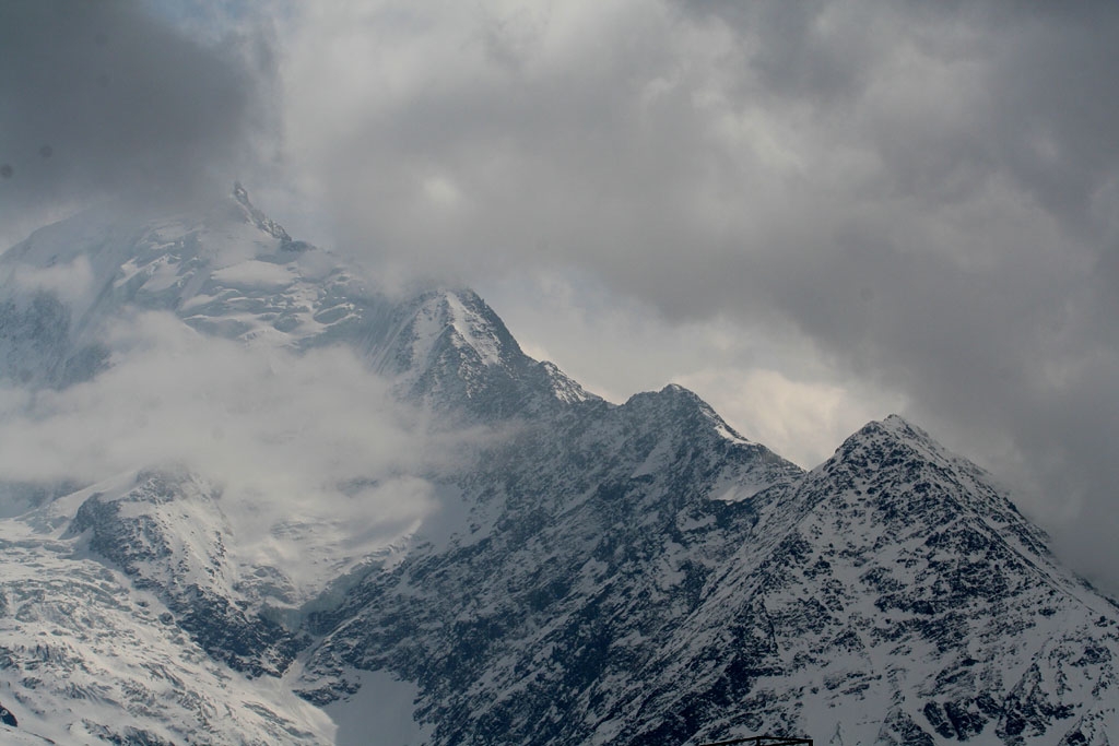
<path fill-rule="evenodd" d="M 317 618 L 304 696 L 393 671 L 446 744 L 1072 744 L 1119 726 L 1115 605 L 901 418 L 803 476 L 680 389 L 589 418 L 483 472 L 479 499 L 506 506 L 485 542 L 414 555 Z M 754 487 L 717 500 L 727 483 Z"/>

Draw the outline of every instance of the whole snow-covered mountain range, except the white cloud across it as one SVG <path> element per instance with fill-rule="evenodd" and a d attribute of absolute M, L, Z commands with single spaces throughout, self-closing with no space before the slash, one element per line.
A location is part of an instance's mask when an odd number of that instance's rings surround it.
<path fill-rule="evenodd" d="M 239 187 L 199 215 L 107 214 L 0 256 L 9 415 L 96 399 L 130 365 L 120 324 L 157 314 L 269 360 L 248 389 L 340 348 L 426 423 L 421 450 L 439 455 L 385 459 L 359 441 L 359 464 L 384 463 L 339 465 L 336 502 L 282 481 L 238 492 L 208 473 L 218 461 L 186 456 L 138 455 L 93 482 L 63 466 L 0 475 L 6 738 L 1119 733 L 1119 607 L 1061 567 L 988 475 L 900 417 L 805 472 L 678 386 L 622 405 L 585 391 L 524 355 L 472 291 L 376 290 Z M 203 407 L 209 389 L 194 396 Z M 265 404 L 222 406 L 288 412 Z M 405 503 L 422 509 L 391 514 Z"/>

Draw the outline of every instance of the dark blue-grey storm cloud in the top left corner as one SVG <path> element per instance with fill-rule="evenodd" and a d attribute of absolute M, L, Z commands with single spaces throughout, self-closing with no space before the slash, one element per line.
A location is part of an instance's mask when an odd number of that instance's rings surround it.
<path fill-rule="evenodd" d="M 181 198 L 245 161 L 266 57 L 140 2 L 0 3 L 0 217 L 91 195 Z"/>

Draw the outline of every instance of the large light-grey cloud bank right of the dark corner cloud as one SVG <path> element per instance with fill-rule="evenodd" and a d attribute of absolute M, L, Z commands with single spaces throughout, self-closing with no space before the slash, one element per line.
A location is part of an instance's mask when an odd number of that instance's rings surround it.
<path fill-rule="evenodd" d="M 1113 3 L 318 8 L 281 31 L 289 158 L 378 266 L 575 267 L 779 330 L 1007 470 L 1115 589 L 1117 31 Z"/>

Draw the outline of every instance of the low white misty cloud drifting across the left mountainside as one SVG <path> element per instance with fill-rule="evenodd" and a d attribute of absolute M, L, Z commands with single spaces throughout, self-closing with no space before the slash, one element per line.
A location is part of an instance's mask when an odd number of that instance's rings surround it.
<path fill-rule="evenodd" d="M 110 344 L 112 367 L 90 381 L 0 389 L 0 483 L 186 468 L 220 489 L 239 557 L 331 546 L 323 566 L 298 553 L 288 563 L 325 580 L 434 517 L 440 475 L 470 447 L 469 434 L 436 432 L 396 402 L 346 349 L 250 348 L 167 313 L 116 323 Z"/>

